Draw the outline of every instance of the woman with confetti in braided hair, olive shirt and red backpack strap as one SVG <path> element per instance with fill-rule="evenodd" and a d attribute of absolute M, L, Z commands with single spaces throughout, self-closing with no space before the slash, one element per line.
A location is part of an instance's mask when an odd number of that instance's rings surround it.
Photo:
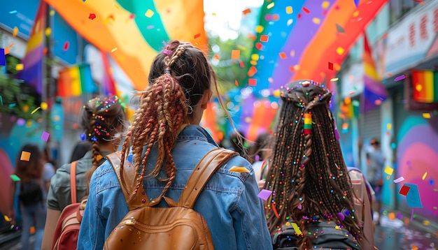
<path fill-rule="evenodd" d="M 96 97 L 83 106 L 79 124 L 92 149 L 76 163 L 76 202 L 87 196 L 91 175 L 105 156 L 118 149 L 125 121 L 125 111 L 117 96 Z M 42 249 L 51 249 L 59 216 L 71 204 L 70 166 L 71 163 L 61 166 L 51 179 Z"/>

